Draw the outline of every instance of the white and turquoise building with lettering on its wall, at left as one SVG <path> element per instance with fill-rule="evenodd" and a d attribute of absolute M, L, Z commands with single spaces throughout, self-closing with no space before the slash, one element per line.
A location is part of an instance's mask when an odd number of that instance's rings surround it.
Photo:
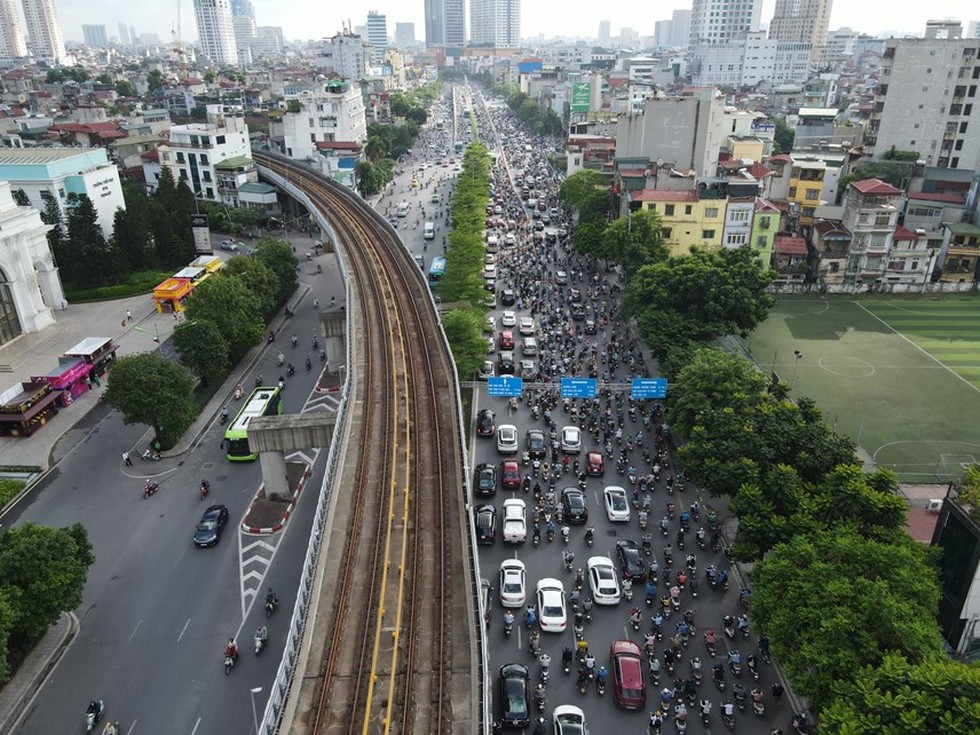
<path fill-rule="evenodd" d="M 112 235 L 116 209 L 126 208 L 119 169 L 109 162 L 104 148 L 0 149 L 0 181 L 22 189 L 38 211 L 54 200 L 63 220 L 68 195 L 85 194 L 106 239 Z"/>

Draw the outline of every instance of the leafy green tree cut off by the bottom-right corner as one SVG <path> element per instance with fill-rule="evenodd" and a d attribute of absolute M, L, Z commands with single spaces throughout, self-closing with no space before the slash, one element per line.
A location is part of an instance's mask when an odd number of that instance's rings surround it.
<path fill-rule="evenodd" d="M 886 654 L 834 687 L 820 713 L 826 735 L 980 735 L 980 666 Z"/>

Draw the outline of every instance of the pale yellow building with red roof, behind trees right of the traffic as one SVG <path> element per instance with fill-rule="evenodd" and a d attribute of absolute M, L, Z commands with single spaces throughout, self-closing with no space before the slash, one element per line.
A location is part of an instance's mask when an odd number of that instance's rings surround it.
<path fill-rule="evenodd" d="M 633 202 L 656 212 L 671 256 L 688 255 L 693 245 L 721 247 L 725 231 L 725 199 L 698 199 L 693 190 L 634 192 Z"/>

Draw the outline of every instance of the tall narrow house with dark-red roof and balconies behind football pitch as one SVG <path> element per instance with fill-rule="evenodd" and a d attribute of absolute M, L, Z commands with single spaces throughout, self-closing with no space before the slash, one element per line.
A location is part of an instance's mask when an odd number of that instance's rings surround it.
<path fill-rule="evenodd" d="M 880 281 L 892 249 L 902 191 L 880 179 L 852 181 L 844 193 L 841 224 L 851 233 L 844 283 Z"/>

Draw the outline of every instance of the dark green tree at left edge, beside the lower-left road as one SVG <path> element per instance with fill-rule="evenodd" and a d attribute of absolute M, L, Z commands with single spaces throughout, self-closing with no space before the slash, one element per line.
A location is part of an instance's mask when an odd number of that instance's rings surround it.
<path fill-rule="evenodd" d="M 94 562 L 81 524 L 25 523 L 0 536 L 0 586 L 13 612 L 13 636 L 24 643 L 38 641 L 62 612 L 81 605 Z"/>

